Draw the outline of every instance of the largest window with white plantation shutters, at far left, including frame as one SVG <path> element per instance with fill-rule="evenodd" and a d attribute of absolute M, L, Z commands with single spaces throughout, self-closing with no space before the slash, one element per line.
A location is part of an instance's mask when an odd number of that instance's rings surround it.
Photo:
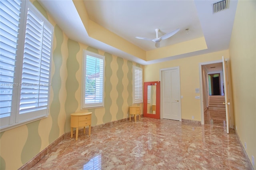
<path fill-rule="evenodd" d="M 0 1 L 0 123 L 46 117 L 53 26 L 30 1 Z"/>

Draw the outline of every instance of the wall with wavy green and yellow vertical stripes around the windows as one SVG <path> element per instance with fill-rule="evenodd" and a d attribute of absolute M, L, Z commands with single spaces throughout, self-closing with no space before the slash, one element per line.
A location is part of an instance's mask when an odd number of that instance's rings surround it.
<path fill-rule="evenodd" d="M 1 170 L 20 168 L 54 140 L 70 132 L 70 113 L 92 112 L 92 126 L 127 118 L 132 105 L 132 65 L 143 67 L 68 39 L 42 6 L 32 2 L 54 26 L 50 113 L 47 118 L 0 133 Z M 105 56 L 104 108 L 80 110 L 83 50 Z"/>

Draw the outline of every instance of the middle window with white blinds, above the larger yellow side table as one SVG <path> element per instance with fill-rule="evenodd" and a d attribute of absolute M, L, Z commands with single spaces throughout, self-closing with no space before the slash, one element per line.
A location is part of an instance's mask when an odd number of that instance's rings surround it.
<path fill-rule="evenodd" d="M 81 109 L 104 107 L 105 56 L 84 50 L 83 61 Z"/>

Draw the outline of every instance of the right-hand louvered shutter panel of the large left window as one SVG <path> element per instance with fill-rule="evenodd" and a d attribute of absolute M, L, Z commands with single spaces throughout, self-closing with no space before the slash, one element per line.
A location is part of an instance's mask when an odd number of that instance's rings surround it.
<path fill-rule="evenodd" d="M 34 111 L 38 107 L 43 24 L 44 22 L 28 9 L 22 67 L 20 113 Z"/>

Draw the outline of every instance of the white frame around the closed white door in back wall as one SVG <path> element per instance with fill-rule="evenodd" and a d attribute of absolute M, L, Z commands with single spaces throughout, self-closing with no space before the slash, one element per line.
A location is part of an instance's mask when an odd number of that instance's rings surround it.
<path fill-rule="evenodd" d="M 176 67 L 168 67 L 168 68 L 164 68 L 164 69 L 160 69 L 159 70 L 159 72 L 160 72 L 160 82 L 161 82 L 161 88 L 160 88 L 160 92 L 161 92 L 161 98 L 160 98 L 160 107 L 161 107 L 161 109 L 160 109 L 160 119 L 163 119 L 163 117 L 164 117 L 164 113 L 163 113 L 163 99 L 162 99 L 162 97 L 163 97 L 163 88 L 162 88 L 162 86 L 163 86 L 163 81 L 162 81 L 162 71 L 166 71 L 166 70 L 171 70 L 171 69 L 177 69 L 178 70 L 178 75 L 179 75 L 179 78 L 180 78 L 180 66 L 176 66 Z M 180 87 L 180 81 L 178 81 L 178 86 Z M 181 89 L 181 88 L 180 88 Z M 179 97 L 180 97 L 180 91 L 179 91 Z M 181 119 L 181 100 L 180 100 L 180 98 L 179 98 L 179 101 L 180 102 L 178 102 L 179 103 L 179 107 L 180 107 L 180 111 L 179 111 L 179 121 L 181 122 L 182 121 L 182 119 Z"/>

